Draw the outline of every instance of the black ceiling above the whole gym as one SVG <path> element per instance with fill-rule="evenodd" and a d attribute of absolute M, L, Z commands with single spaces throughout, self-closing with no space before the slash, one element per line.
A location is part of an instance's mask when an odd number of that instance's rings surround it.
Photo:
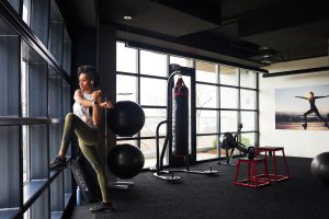
<path fill-rule="evenodd" d="M 91 25 L 93 0 L 73 0 Z M 89 2 L 89 3 L 88 3 Z M 261 67 L 328 55 L 326 0 L 99 0 L 117 36 L 168 51 Z M 89 12 L 87 12 L 89 10 Z M 88 14 L 89 13 L 89 14 Z M 124 20 L 125 15 L 133 19 Z M 90 19 L 88 19 L 90 18 Z"/>

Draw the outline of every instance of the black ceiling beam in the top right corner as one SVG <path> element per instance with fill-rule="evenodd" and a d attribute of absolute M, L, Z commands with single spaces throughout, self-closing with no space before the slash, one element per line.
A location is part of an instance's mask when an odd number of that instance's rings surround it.
<path fill-rule="evenodd" d="M 253 12 L 238 21 L 239 36 L 246 37 L 329 19 L 327 1 L 302 1 Z"/>

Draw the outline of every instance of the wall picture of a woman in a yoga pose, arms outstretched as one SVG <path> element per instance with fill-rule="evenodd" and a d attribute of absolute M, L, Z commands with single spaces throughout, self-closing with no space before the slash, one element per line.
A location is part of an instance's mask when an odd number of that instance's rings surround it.
<path fill-rule="evenodd" d="M 275 129 L 329 130 L 329 84 L 275 89 Z"/>

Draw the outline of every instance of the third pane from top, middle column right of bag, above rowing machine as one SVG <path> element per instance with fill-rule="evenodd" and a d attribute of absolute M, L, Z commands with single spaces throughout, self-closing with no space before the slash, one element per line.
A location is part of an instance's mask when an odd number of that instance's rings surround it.
<path fill-rule="evenodd" d="M 222 111 L 220 112 L 220 132 L 237 131 L 238 129 L 238 112 Z"/>

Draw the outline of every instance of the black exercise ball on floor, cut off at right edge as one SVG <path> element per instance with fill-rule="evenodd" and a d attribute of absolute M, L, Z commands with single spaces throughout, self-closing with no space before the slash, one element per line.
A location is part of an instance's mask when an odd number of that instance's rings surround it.
<path fill-rule="evenodd" d="M 329 152 L 320 153 L 313 159 L 310 172 L 324 184 L 329 185 Z"/>

